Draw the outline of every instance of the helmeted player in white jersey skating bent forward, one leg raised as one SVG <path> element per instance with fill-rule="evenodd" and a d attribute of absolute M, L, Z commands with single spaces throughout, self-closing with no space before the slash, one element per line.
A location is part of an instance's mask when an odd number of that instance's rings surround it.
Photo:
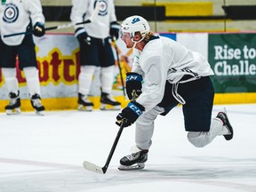
<path fill-rule="evenodd" d="M 116 124 L 124 127 L 136 121 L 132 154 L 120 160 L 120 170 L 142 169 L 148 159 L 148 149 L 156 116 L 165 116 L 182 104 L 188 140 L 203 148 L 218 136 L 233 138 L 233 129 L 224 108 L 212 118 L 214 90 L 209 76 L 210 64 L 199 52 L 192 52 L 170 38 L 156 36 L 148 21 L 132 16 L 121 25 L 122 40 L 127 48 L 135 48 L 132 72 L 126 77 L 126 92 L 132 100 L 116 116 Z M 141 81 L 145 89 L 141 92 Z"/>

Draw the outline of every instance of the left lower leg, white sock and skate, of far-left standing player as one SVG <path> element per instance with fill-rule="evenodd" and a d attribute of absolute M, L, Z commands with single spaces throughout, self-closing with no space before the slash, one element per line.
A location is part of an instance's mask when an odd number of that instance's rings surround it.
<path fill-rule="evenodd" d="M 5 106 L 6 114 L 20 114 L 20 91 L 19 83 L 16 78 L 16 68 L 2 68 L 2 73 L 10 97 L 10 103 Z"/>

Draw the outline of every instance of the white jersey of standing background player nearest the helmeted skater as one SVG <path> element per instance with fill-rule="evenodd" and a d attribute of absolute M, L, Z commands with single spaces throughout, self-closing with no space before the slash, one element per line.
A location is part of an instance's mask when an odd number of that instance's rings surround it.
<path fill-rule="evenodd" d="M 96 3 L 100 4 L 100 11 L 92 23 L 76 25 L 88 20 L 92 16 Z M 89 36 L 106 38 L 109 36 L 110 23 L 116 21 L 115 5 L 113 0 L 72 0 L 70 19 L 75 28 L 85 28 Z"/>

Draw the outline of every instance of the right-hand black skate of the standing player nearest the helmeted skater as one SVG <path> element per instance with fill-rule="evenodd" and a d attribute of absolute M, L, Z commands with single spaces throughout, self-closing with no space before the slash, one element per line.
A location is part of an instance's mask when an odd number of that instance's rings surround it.
<path fill-rule="evenodd" d="M 100 109 L 101 110 L 120 110 L 121 103 L 114 100 L 108 93 L 101 92 L 100 97 Z"/>

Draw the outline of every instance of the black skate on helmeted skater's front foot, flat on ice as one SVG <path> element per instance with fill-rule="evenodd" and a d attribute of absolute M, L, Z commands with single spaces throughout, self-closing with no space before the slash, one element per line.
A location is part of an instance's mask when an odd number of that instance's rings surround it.
<path fill-rule="evenodd" d="M 148 160 L 148 150 L 142 150 L 131 155 L 124 156 L 120 159 L 119 170 L 130 171 L 140 170 L 145 167 L 145 162 Z"/>

